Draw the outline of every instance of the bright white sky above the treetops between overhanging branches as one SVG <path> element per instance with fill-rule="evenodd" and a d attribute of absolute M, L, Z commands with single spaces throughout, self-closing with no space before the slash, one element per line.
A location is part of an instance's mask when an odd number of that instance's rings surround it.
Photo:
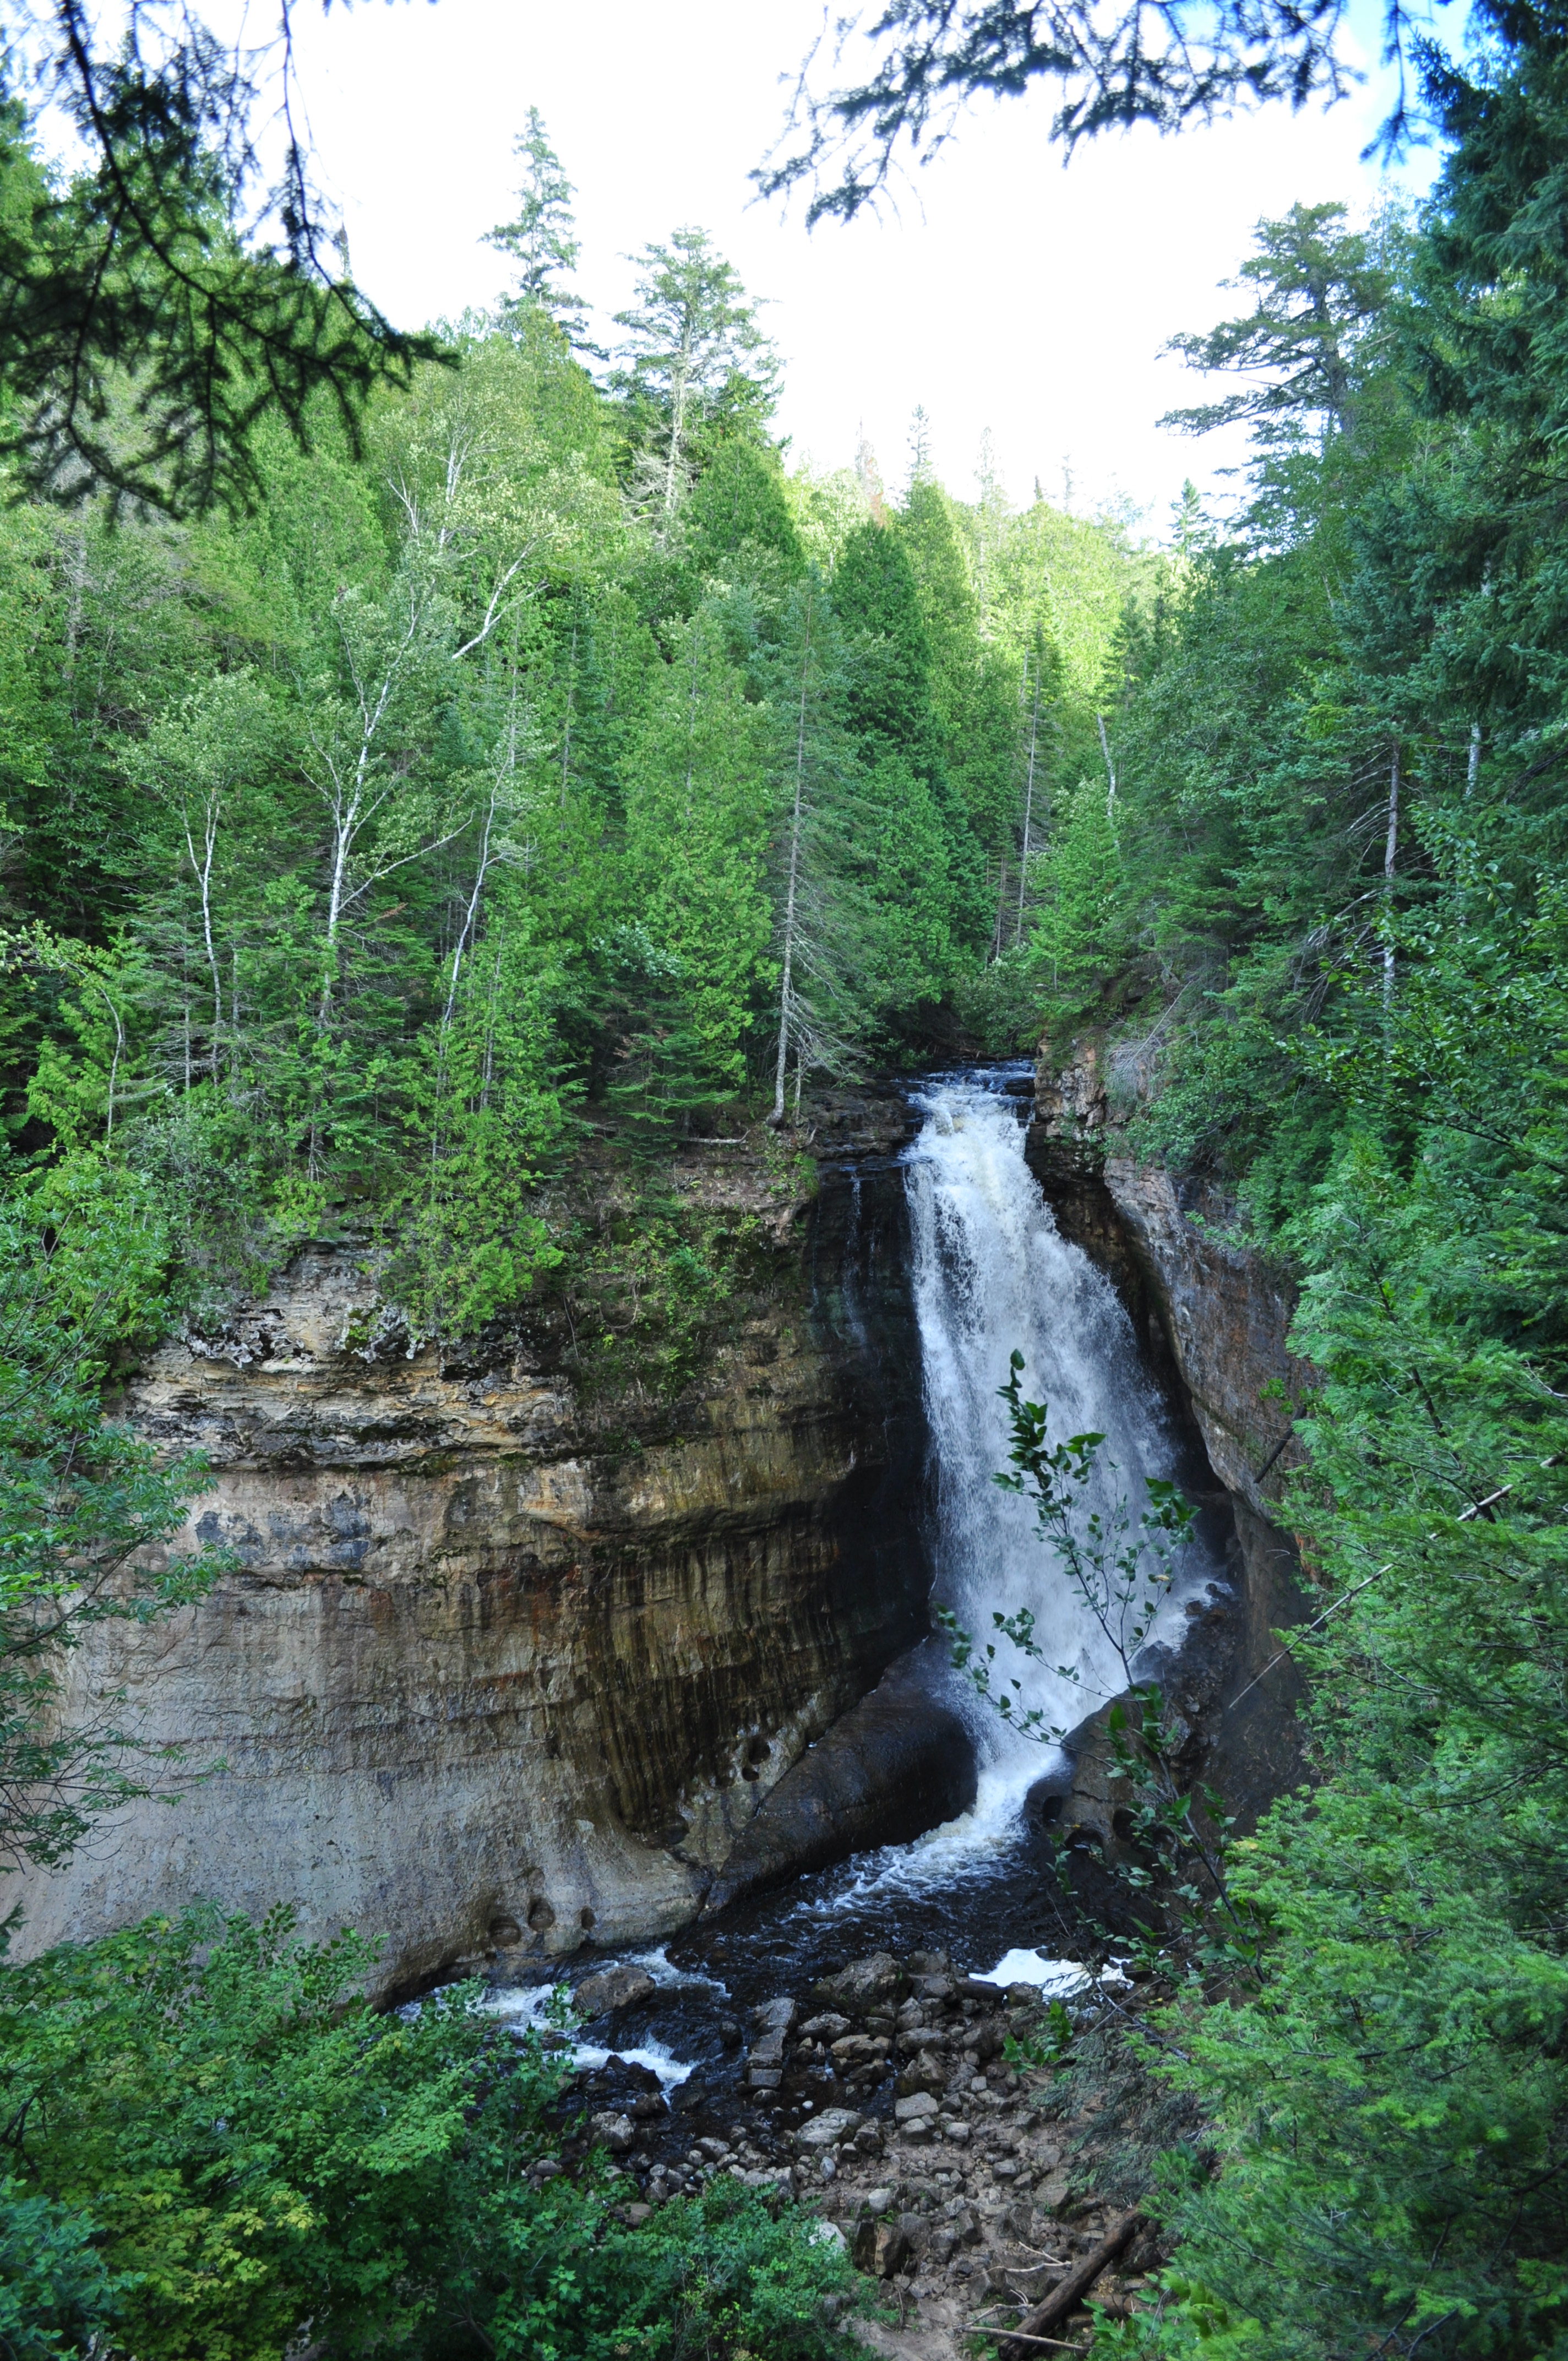
<path fill-rule="evenodd" d="M 801 208 L 753 203 L 746 175 L 777 135 L 779 76 L 815 38 L 822 0 L 413 0 L 302 9 L 298 24 L 354 274 L 401 326 L 501 293 L 505 260 L 479 241 L 515 210 L 510 149 L 534 104 L 576 182 L 576 279 L 602 323 L 631 295 L 626 253 L 697 222 L 767 297 L 796 453 L 843 465 L 864 420 L 893 486 L 919 401 L 959 496 L 973 496 L 989 427 L 1015 501 L 1034 477 L 1060 501 L 1070 470 L 1074 508 L 1122 491 L 1150 531 L 1185 475 L 1211 482 L 1237 456 L 1155 425 L 1200 399 L 1159 345 L 1228 314 L 1216 288 L 1259 217 L 1296 198 L 1355 212 L 1377 198 L 1360 149 L 1381 78 L 1332 111 L 1117 135 L 1067 168 L 1044 139 L 1041 87 L 978 106 L 897 220 L 808 236 Z M 1431 168 L 1417 156 L 1403 184 Z"/>

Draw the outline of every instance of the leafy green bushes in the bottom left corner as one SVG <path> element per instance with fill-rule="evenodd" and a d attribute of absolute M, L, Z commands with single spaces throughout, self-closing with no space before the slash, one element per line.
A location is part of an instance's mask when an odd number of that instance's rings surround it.
<path fill-rule="evenodd" d="M 602 2151 L 529 2170 L 571 2130 L 538 2035 L 475 1986 L 378 2016 L 368 1964 L 286 1912 L 191 1910 L 0 1971 L 0 2238 L 38 2238 L 12 2349 L 87 2326 L 149 2361 L 281 2361 L 307 2323 L 409 2361 L 843 2349 L 848 2264 L 808 2222 L 718 2189 L 626 2229 Z"/>

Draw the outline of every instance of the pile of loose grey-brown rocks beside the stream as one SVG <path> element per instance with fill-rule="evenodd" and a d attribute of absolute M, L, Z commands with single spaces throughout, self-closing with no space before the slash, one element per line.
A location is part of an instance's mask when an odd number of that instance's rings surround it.
<path fill-rule="evenodd" d="M 1060 2120 L 1048 2073 L 1008 2061 L 1011 2038 L 1027 2040 L 1041 2014 L 1032 1986 L 978 1983 L 945 1953 L 871 1953 L 732 2026 L 725 2087 L 675 2111 L 647 2092 L 600 2104 L 588 2137 L 638 2177 L 647 2205 L 720 2172 L 810 2203 L 855 2264 L 897 2290 L 919 2352 L 956 2354 L 961 2333 L 1001 2335 L 1048 2297 L 1124 2212 L 1093 2186 L 1093 2125 Z M 1133 2307 L 1155 2262 L 1143 2236 L 1093 2300 Z M 886 2328 L 874 2337 L 900 2349 Z"/>

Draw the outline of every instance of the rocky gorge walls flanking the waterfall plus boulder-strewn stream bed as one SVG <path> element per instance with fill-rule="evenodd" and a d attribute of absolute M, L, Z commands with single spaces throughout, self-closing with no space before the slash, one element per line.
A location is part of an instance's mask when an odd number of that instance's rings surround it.
<path fill-rule="evenodd" d="M 1216 1580 L 1167 1686 L 1188 1773 L 1244 1820 L 1301 1771 L 1270 1520 L 1306 1376 L 1289 1291 L 1117 1152 L 1093 1048 L 1006 1088 L 1204 1511 Z M 952 1870 L 916 1844 L 912 1882 L 888 1851 L 968 1825 L 978 1778 L 930 1676 L 942 1495 L 900 1162 L 919 1121 L 904 1091 L 841 1093 L 810 1157 L 756 1133 L 680 1155 L 673 1190 L 734 1242 L 680 1386 L 623 1365 L 586 1384 L 569 1303 L 463 1353 L 418 1343 L 354 1240 L 163 1346 L 125 1410 L 205 1450 L 191 1530 L 234 1570 L 80 1653 L 73 1709 L 123 1698 L 144 1742 L 182 1750 L 179 1797 L 33 1875 L 24 1943 L 215 1896 L 383 1936 L 387 2000 L 479 1974 L 534 2021 L 567 1981 L 562 2167 L 597 2141 L 635 2167 L 628 2203 L 713 2172 L 810 2193 L 949 2337 L 1065 2281 L 1136 2193 L 1096 2160 L 1100 2101 L 1063 2118 L 1008 2056 L 1039 1990 L 975 1981 L 1018 1943 L 1103 1967 L 1084 1905 L 1126 1799 L 1100 1709 L 1041 1761 L 1018 1834 Z M 1129 2234 L 1129 2283 L 1141 2255 Z"/>

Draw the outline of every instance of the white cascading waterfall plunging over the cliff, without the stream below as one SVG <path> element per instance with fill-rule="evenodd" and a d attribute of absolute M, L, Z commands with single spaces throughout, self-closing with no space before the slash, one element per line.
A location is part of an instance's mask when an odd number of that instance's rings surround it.
<path fill-rule="evenodd" d="M 1025 1129 L 1006 1077 L 928 1084 L 926 1124 L 907 1155 L 914 1306 L 921 1334 L 926 1417 L 935 1447 L 935 1601 L 975 1641 L 994 1641 L 994 1615 L 1034 1613 L 1046 1660 L 997 1641 L 997 1676 L 1023 1683 L 1020 1707 L 1072 1728 L 1117 1695 L 1124 1669 L 1067 1572 L 1039 1537 L 1034 1506 L 992 1478 L 1008 1459 L 1008 1410 L 999 1388 L 1008 1355 L 1025 1355 L 1025 1395 L 1046 1402 L 1051 1440 L 1103 1433 L 1084 1511 L 1126 1497 L 1133 1525 L 1145 1480 L 1169 1476 L 1174 1443 L 1155 1388 L 1138 1367 L 1131 1322 L 1110 1280 L 1067 1244 L 1025 1164 Z M 1181 1624 L 1181 1603 L 1216 1568 L 1188 1544 L 1157 1636 Z M 1065 1679 L 1053 1667 L 1072 1667 Z M 980 1750 L 973 1837 L 1013 1823 L 1051 1752 L 1011 1731 L 968 1683 L 952 1676 Z"/>

